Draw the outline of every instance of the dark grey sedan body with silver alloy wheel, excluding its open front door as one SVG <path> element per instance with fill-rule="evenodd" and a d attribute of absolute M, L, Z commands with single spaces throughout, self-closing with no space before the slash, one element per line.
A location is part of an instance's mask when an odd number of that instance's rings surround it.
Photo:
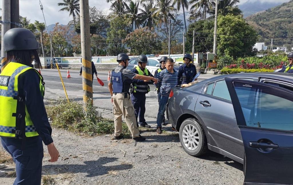
<path fill-rule="evenodd" d="M 293 91 L 293 75 L 238 73 L 213 77 L 186 88 L 173 89 L 166 113 L 173 127 L 179 131 L 180 143 L 185 152 L 199 156 L 209 149 L 243 164 L 243 140 L 224 79 L 226 77 L 272 84 Z M 241 101 L 239 96 L 242 104 L 249 104 L 247 95 L 243 98 Z M 281 103 L 275 102 L 275 106 L 282 108 Z M 253 116 L 251 110 L 242 110 L 244 116 Z M 272 121 L 275 122 L 282 119 L 282 114 L 276 114 L 274 119 Z"/>

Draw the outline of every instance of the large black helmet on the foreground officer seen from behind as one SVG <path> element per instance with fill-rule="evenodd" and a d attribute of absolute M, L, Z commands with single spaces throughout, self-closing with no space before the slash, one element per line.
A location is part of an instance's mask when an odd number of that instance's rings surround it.
<path fill-rule="evenodd" d="M 39 43 L 33 34 L 25 28 L 12 28 L 3 37 L 5 52 L 11 50 L 39 49 Z"/>

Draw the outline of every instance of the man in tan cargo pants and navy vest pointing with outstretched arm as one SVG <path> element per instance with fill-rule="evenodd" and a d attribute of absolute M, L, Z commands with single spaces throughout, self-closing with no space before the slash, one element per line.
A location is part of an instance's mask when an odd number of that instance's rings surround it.
<path fill-rule="evenodd" d="M 132 134 L 132 139 L 135 141 L 144 141 L 145 137 L 139 134 L 136 125 L 136 117 L 134 107 L 129 96 L 129 89 L 132 79 L 153 80 L 155 83 L 158 80 L 154 77 L 138 75 L 127 69 L 129 57 L 125 53 L 120 53 L 117 56 L 119 65 L 112 71 L 112 75 L 108 84 L 111 94 L 111 102 L 113 103 L 113 114 L 115 133 L 111 139 L 123 139 L 122 135 L 122 115 Z"/>

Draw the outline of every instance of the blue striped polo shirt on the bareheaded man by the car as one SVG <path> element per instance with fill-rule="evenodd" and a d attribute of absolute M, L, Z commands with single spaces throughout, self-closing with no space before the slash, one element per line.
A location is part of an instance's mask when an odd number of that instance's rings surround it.
<path fill-rule="evenodd" d="M 160 88 L 161 96 L 169 96 L 171 90 L 177 85 L 178 71 L 173 69 L 173 73 L 167 69 L 156 74 L 156 78 L 160 80 L 156 87 Z"/>

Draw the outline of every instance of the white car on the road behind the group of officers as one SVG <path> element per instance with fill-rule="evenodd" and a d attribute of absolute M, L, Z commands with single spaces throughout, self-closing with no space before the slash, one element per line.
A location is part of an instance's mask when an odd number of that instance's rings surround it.
<path fill-rule="evenodd" d="M 160 67 L 160 58 L 159 57 L 151 57 L 148 58 L 148 63 L 147 63 L 147 69 L 149 72 L 151 72 L 152 75 L 155 74 L 155 71 Z M 138 58 L 130 58 L 128 61 L 128 66 L 127 69 L 132 70 L 133 68 L 136 68 L 138 65 Z"/>

